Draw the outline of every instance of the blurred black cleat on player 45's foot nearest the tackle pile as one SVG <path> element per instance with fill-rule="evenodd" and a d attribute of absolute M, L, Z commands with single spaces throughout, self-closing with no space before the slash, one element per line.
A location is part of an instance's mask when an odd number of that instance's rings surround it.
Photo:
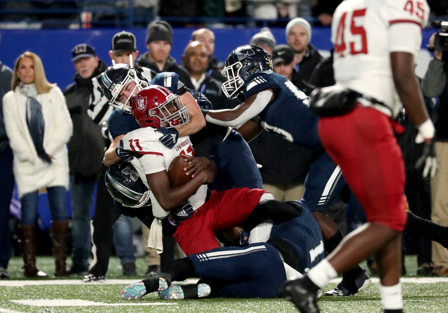
<path fill-rule="evenodd" d="M 302 313 L 320 313 L 316 303 L 316 293 L 305 288 L 303 278 L 286 281 L 280 287 L 280 294 L 291 301 Z"/>

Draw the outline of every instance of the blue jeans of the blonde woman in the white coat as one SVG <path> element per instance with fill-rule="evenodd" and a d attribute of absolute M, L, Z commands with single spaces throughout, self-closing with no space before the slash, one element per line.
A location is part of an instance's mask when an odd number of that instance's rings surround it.
<path fill-rule="evenodd" d="M 53 221 L 65 221 L 67 219 L 67 206 L 65 187 L 47 187 L 48 205 Z M 22 205 L 21 221 L 22 225 L 35 225 L 37 222 L 37 208 L 39 204 L 39 191 L 26 193 L 20 198 Z"/>

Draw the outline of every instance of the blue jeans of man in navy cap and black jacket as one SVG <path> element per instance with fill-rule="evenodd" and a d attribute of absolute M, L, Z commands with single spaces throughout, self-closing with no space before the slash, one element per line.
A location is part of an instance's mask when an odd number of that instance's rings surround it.
<path fill-rule="evenodd" d="M 75 266 L 89 266 L 90 256 L 90 207 L 93 202 L 93 193 L 96 180 L 76 179 L 70 175 L 70 195 L 72 198 L 72 263 Z"/>

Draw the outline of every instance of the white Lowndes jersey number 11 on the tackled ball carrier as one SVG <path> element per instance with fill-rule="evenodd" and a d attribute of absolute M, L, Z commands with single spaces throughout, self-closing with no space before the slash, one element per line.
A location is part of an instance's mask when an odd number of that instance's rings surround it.
<path fill-rule="evenodd" d="M 135 151 L 142 155 L 138 159 L 143 168 L 143 173 L 140 176 L 146 174 L 158 173 L 160 171 L 168 171 L 168 167 L 171 161 L 178 155 L 184 154 L 190 157 L 194 157 L 193 145 L 189 136 L 179 137 L 176 146 L 174 148 L 167 148 L 159 140 L 154 141 L 154 130 L 151 127 L 144 127 L 137 130 L 133 130 L 123 137 L 123 147 L 126 150 Z M 149 188 L 146 179 L 143 180 L 146 187 Z M 150 191 L 152 212 L 155 217 L 164 218 L 168 216 L 169 212 L 166 212 L 155 199 L 154 194 Z M 205 202 L 207 196 L 207 185 L 201 185 L 198 191 L 191 196 L 188 200 L 194 210 L 197 210 Z"/>

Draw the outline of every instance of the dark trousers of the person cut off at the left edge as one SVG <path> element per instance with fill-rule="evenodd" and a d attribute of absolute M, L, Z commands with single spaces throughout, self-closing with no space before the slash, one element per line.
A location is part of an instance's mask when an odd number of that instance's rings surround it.
<path fill-rule="evenodd" d="M 0 267 L 6 269 L 11 258 L 11 231 L 9 230 L 9 204 L 13 195 L 13 152 L 7 146 L 0 152 Z"/>

